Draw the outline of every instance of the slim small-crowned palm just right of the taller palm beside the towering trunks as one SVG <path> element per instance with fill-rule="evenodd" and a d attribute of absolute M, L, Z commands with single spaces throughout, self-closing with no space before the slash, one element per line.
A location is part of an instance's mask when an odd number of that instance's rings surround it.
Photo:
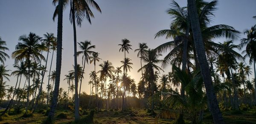
<path fill-rule="evenodd" d="M 98 87 L 97 87 L 97 84 L 96 84 L 96 61 L 97 62 L 99 62 L 99 60 L 100 60 L 101 58 L 99 58 L 99 53 L 97 53 L 97 52 L 93 52 L 93 54 L 92 54 L 92 56 L 90 56 L 90 64 L 93 62 L 93 65 L 94 65 L 94 74 L 95 74 L 95 79 L 94 79 L 94 84 L 95 84 L 95 97 L 96 97 L 96 101 L 95 101 L 95 103 L 96 103 L 96 105 L 98 105 L 98 96 L 97 96 L 97 89 L 98 89 Z M 98 109 L 99 109 L 99 107 L 98 107 Z"/>

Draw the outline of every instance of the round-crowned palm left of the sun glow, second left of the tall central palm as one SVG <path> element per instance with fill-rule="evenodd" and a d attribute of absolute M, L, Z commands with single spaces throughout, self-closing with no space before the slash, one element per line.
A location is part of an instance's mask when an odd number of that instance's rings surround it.
<path fill-rule="evenodd" d="M 106 98 L 106 110 L 107 110 L 107 77 L 111 77 L 114 67 L 112 66 L 111 62 L 104 61 L 103 64 L 99 65 L 102 70 L 99 70 L 98 73 L 100 73 L 100 78 L 105 78 L 105 98 Z"/>

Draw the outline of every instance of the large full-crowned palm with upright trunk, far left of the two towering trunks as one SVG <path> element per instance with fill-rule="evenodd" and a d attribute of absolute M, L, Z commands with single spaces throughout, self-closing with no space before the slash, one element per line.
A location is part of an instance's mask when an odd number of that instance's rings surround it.
<path fill-rule="evenodd" d="M 16 45 L 16 51 L 12 53 L 12 58 L 15 58 L 15 62 L 26 59 L 27 67 L 28 67 L 28 86 L 30 86 L 30 68 L 31 68 L 31 60 L 34 62 L 40 61 L 40 58 L 45 61 L 44 56 L 40 54 L 41 46 L 38 44 L 41 37 L 30 32 L 28 36 L 22 35 L 19 37 L 20 41 Z M 28 91 L 30 91 L 28 87 Z M 26 113 L 29 104 L 29 92 L 27 92 L 27 101 L 26 101 Z"/>

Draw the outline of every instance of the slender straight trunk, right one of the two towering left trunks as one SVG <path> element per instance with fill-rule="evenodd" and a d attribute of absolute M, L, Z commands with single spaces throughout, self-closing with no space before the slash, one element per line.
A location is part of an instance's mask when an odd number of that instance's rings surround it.
<path fill-rule="evenodd" d="M 78 98 L 78 76 L 77 76 L 77 53 L 76 53 L 76 20 L 75 20 L 75 0 L 72 4 L 72 20 L 74 32 L 74 61 L 75 61 L 75 121 L 79 120 L 79 98 Z"/>

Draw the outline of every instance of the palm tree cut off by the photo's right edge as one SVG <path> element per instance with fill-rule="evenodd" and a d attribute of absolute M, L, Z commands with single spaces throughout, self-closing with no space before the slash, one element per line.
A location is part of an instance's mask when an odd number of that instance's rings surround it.
<path fill-rule="evenodd" d="M 251 27 L 250 30 L 244 31 L 244 34 L 247 35 L 246 38 L 241 39 L 240 46 L 241 48 L 246 45 L 246 49 L 242 52 L 242 54 L 246 53 L 244 58 L 249 57 L 250 65 L 253 64 L 254 67 L 254 78 L 256 79 L 256 25 Z M 256 89 L 256 80 L 254 80 L 254 89 Z M 254 94 L 254 98 L 256 99 L 256 92 Z M 256 101 L 256 100 L 255 100 Z"/>

